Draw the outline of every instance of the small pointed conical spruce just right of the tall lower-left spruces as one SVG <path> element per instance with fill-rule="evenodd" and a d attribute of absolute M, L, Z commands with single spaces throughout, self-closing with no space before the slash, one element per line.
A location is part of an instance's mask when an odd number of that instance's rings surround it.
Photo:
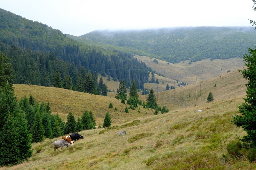
<path fill-rule="evenodd" d="M 32 142 L 42 142 L 44 139 L 44 126 L 42 124 L 42 119 L 39 114 L 39 110 L 36 111 L 34 123 L 31 129 Z"/>

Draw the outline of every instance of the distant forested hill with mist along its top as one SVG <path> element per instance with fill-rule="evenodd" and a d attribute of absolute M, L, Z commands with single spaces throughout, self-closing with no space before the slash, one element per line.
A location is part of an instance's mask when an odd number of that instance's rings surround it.
<path fill-rule="evenodd" d="M 253 27 L 176 27 L 141 31 L 93 31 L 80 36 L 115 46 L 140 50 L 177 63 L 205 58 L 242 57 L 255 45 Z M 138 53 L 140 55 L 140 53 Z"/>

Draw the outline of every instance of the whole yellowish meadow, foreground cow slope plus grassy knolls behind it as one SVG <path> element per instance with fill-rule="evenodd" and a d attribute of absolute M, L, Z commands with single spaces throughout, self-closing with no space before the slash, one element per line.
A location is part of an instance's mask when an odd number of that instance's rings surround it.
<path fill-rule="evenodd" d="M 169 109 L 169 113 L 158 115 L 142 107 L 140 113 L 139 108 L 125 113 L 127 105 L 115 99 L 113 92 L 97 96 L 15 84 L 18 100 L 32 94 L 39 103 L 49 102 L 52 113 L 58 113 L 64 120 L 69 111 L 77 118 L 86 109 L 92 110 L 96 124 L 102 126 L 108 111 L 112 126 L 81 131 L 79 134 L 84 135 L 84 139 L 56 152 L 52 143 L 61 137 L 33 143 L 33 154 L 28 161 L 1 169 L 255 169 L 256 163 L 249 162 L 246 153 L 236 158 L 227 151 L 231 140 L 246 135 L 231 122 L 232 116 L 239 114 L 237 106 L 244 103 L 244 83 L 246 80 L 240 72 L 234 71 L 155 92 L 158 105 Z M 114 85 L 108 89 L 115 89 Z M 206 103 L 210 91 L 214 101 Z M 143 101 L 146 96 L 140 95 L 140 99 Z M 113 109 L 108 108 L 110 102 Z M 122 131 L 126 134 L 119 135 Z"/>

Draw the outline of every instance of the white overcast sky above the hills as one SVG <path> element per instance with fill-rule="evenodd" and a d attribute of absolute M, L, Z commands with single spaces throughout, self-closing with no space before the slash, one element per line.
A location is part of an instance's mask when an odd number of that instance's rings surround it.
<path fill-rule="evenodd" d="M 94 30 L 252 26 L 252 0 L 0 0 L 0 8 L 80 36 Z"/>

